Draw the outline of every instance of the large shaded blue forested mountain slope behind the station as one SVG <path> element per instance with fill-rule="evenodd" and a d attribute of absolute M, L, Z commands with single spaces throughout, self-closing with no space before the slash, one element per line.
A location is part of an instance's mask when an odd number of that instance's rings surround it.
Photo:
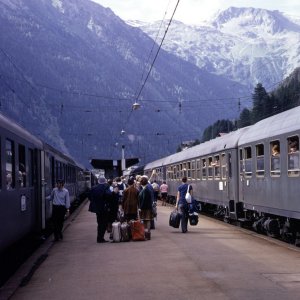
<path fill-rule="evenodd" d="M 174 152 L 216 119 L 236 117 L 247 92 L 161 50 L 132 111 L 157 45 L 147 62 L 153 41 L 110 9 L 2 0 L 0 26 L 2 111 L 85 165 L 119 158 L 117 143 L 143 161 Z"/>

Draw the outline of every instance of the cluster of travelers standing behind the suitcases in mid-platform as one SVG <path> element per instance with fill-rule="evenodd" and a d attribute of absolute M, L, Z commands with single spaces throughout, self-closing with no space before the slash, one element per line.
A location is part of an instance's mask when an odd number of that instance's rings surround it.
<path fill-rule="evenodd" d="M 112 223 L 117 220 L 141 220 L 145 236 L 151 239 L 157 199 L 147 176 L 130 177 L 126 183 L 120 177 L 108 181 L 100 177 L 98 185 L 91 189 L 89 199 L 89 211 L 97 216 L 97 243 L 108 242 L 104 238 L 106 231 L 111 233 L 112 239 Z"/>

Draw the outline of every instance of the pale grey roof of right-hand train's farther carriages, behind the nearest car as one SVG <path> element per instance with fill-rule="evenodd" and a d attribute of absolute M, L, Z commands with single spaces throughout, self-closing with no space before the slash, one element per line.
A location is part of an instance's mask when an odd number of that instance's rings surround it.
<path fill-rule="evenodd" d="M 244 127 L 236 131 L 232 131 L 221 137 L 217 137 L 213 140 L 207 141 L 205 143 L 196 145 L 194 147 L 188 148 L 184 151 L 174 153 L 170 156 L 158 159 L 154 162 L 146 164 L 145 170 L 161 167 L 163 165 L 169 165 L 175 162 L 183 161 L 186 159 L 193 159 L 199 156 L 204 156 L 207 154 L 214 154 L 224 149 L 235 148 L 238 145 L 240 137 L 249 129 L 249 127 Z"/>

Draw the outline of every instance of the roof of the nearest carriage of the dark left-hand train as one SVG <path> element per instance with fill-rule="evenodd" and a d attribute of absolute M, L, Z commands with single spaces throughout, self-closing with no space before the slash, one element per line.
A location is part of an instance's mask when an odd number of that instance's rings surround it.
<path fill-rule="evenodd" d="M 31 134 L 21 125 L 17 124 L 15 121 L 11 120 L 10 118 L 0 114 L 0 127 L 7 129 L 11 133 L 20 136 L 27 140 L 28 142 L 34 144 L 38 148 L 42 148 L 43 143 L 39 140 L 36 136 Z"/>

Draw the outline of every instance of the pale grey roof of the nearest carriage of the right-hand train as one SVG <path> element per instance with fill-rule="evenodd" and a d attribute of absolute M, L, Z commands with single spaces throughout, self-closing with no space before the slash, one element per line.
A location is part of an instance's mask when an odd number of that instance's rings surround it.
<path fill-rule="evenodd" d="M 284 111 L 250 126 L 240 138 L 239 145 L 300 129 L 300 106 Z"/>

